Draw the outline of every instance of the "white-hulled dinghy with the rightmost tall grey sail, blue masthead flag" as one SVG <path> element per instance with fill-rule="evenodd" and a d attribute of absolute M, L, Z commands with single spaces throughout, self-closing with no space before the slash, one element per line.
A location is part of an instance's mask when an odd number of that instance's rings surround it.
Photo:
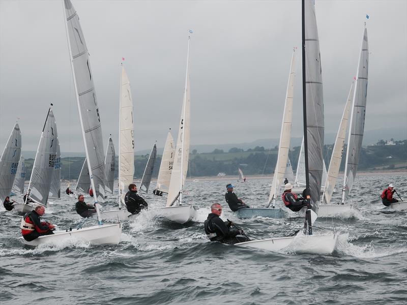
<path fill-rule="evenodd" d="M 363 131 L 366 115 L 366 96 L 367 96 L 367 76 L 369 66 L 369 48 L 367 40 L 366 24 L 363 31 L 361 50 L 359 55 L 359 64 L 355 89 L 353 92 L 353 102 L 351 107 L 351 118 L 349 122 L 350 132 L 348 132 L 345 176 L 343 179 L 341 204 L 322 204 L 320 206 L 321 217 L 351 217 L 357 209 L 353 204 L 345 204 L 345 200 L 352 190 L 356 177 L 356 171 L 359 163 L 360 151 L 362 148 Z M 338 165 L 339 166 L 339 165 Z M 332 185 L 330 186 L 332 187 Z M 325 195 L 325 198 L 329 198 Z M 329 203 L 329 201 L 328 201 Z"/>

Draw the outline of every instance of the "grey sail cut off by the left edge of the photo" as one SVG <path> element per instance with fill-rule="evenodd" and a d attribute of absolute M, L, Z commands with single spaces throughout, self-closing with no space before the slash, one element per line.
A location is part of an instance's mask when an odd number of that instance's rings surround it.
<path fill-rule="evenodd" d="M 0 199 L 10 196 L 21 155 L 21 132 L 16 123 L 0 158 Z"/>

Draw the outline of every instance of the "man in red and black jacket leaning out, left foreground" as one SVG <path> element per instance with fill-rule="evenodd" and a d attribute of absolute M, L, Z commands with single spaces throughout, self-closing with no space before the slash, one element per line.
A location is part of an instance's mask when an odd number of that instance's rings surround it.
<path fill-rule="evenodd" d="M 38 205 L 31 212 L 26 213 L 21 220 L 21 234 L 26 241 L 32 241 L 39 236 L 53 234 L 54 225 L 48 222 L 41 222 L 41 216 L 45 213 L 45 207 Z"/>

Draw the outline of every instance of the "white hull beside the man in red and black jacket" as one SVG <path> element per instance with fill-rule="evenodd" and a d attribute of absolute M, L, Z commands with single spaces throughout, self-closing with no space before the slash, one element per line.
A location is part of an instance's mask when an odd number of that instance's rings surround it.
<path fill-rule="evenodd" d="M 87 228 L 74 229 L 72 231 L 54 231 L 53 235 L 40 236 L 32 241 L 26 241 L 23 237 L 20 240 L 24 245 L 38 246 L 44 243 L 52 243 L 76 238 L 90 241 L 95 245 L 117 245 L 122 234 L 122 225 L 100 225 Z"/>

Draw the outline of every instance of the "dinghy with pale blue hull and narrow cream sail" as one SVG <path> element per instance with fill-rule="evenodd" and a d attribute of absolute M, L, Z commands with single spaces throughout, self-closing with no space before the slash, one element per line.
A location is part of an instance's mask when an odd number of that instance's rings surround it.
<path fill-rule="evenodd" d="M 288 151 L 291 137 L 291 126 L 293 123 L 293 98 L 294 98 L 294 78 L 295 78 L 295 51 L 291 59 L 291 65 L 288 75 L 287 91 L 285 95 L 285 104 L 283 119 L 281 124 L 280 141 L 278 145 L 278 156 L 276 168 L 274 170 L 273 182 L 271 184 L 269 202 L 267 207 L 249 207 L 238 209 L 235 214 L 238 218 L 251 218 L 256 216 L 268 218 L 286 218 L 288 212 L 286 208 L 282 209 L 280 198 L 280 185 L 285 178 L 285 171 L 288 161 Z M 279 198 L 278 207 L 276 208 L 276 200 Z"/>

